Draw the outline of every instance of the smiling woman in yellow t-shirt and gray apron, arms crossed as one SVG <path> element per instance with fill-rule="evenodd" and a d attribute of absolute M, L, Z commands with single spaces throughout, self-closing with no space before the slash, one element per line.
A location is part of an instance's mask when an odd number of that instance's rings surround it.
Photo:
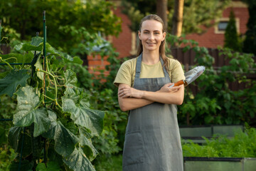
<path fill-rule="evenodd" d="M 123 171 L 180 171 L 176 105 L 183 103 L 184 87 L 169 86 L 185 78 L 183 69 L 165 56 L 166 31 L 159 16 L 145 16 L 138 35 L 138 57 L 125 61 L 114 81 L 121 110 L 129 110 Z"/>

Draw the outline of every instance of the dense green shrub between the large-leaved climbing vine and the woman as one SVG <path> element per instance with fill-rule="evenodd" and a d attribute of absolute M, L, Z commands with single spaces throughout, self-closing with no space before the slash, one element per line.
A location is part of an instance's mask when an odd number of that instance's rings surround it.
<path fill-rule="evenodd" d="M 96 54 L 102 58 L 108 56 L 107 61 L 110 65 L 105 66 L 105 70 L 110 71 L 109 75 L 103 74 L 102 70 L 102 74 L 95 76 L 87 71 L 87 66 L 74 63 L 68 64 L 68 68 L 78 73 L 78 85 L 87 89 L 91 107 L 96 110 L 105 110 L 103 132 L 100 137 L 93 138 L 93 141 L 100 154 L 110 157 L 122 151 L 127 123 L 127 113 L 119 109 L 117 88 L 113 85 L 121 60 L 117 58 L 118 53 L 114 52 L 111 45 L 104 46 L 100 51 L 93 53 L 93 55 Z M 104 160 L 104 157 L 98 157 L 96 160 L 96 163 L 100 163 L 98 160 Z"/>

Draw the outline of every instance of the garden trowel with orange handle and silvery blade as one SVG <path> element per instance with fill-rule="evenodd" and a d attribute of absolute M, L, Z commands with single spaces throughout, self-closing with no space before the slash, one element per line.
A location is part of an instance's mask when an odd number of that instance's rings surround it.
<path fill-rule="evenodd" d="M 173 85 L 169 86 L 169 88 L 171 88 L 173 86 L 180 86 L 182 84 L 184 84 L 184 86 L 188 86 L 188 84 L 192 83 L 193 81 L 196 80 L 196 78 L 201 76 L 201 74 L 205 70 L 206 70 L 206 68 L 204 66 L 196 66 L 196 68 L 193 68 L 184 74 L 185 80 L 178 81 L 178 82 L 174 83 Z"/>

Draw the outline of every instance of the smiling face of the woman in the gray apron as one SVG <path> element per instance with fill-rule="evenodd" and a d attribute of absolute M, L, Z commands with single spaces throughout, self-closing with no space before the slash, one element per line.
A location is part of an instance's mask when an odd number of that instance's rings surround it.
<path fill-rule="evenodd" d="M 139 31 L 139 39 L 142 41 L 143 51 L 159 51 L 161 41 L 164 41 L 166 33 L 159 21 L 146 20 Z"/>

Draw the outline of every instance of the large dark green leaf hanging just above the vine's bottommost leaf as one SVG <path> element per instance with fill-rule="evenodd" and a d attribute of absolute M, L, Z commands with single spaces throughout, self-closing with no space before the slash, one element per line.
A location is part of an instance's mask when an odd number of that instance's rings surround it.
<path fill-rule="evenodd" d="M 50 129 L 43 136 L 55 140 L 55 151 L 67 157 L 74 151 L 78 138 L 65 128 L 60 121 L 57 121 L 57 116 L 53 111 L 48 110 L 48 116 L 50 118 Z"/>

